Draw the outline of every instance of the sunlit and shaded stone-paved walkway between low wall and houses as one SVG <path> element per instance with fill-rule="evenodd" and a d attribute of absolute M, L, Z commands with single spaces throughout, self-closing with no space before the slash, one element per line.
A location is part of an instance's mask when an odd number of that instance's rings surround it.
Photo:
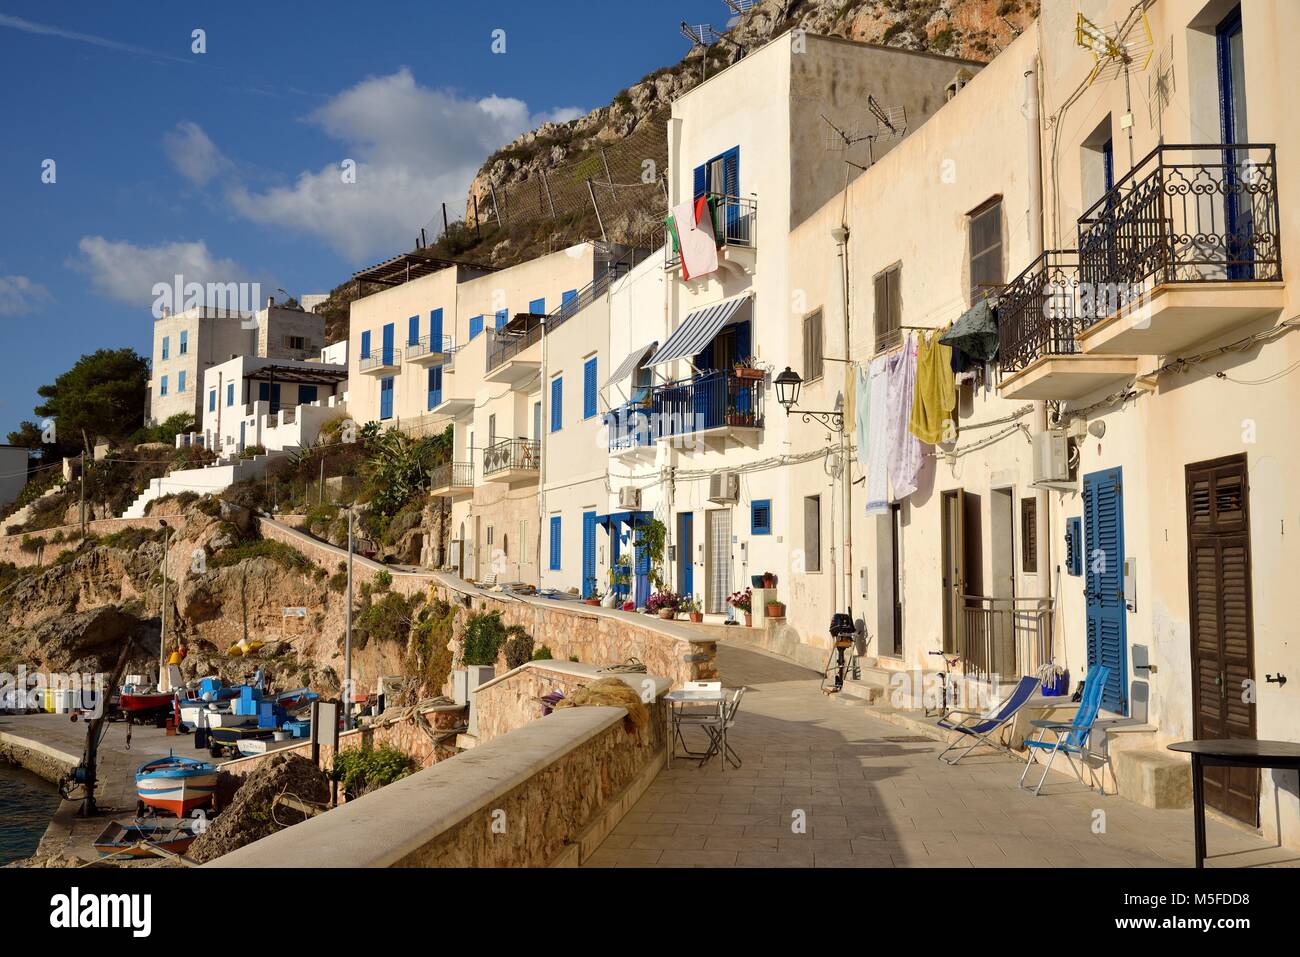
<path fill-rule="evenodd" d="M 818 689 L 819 676 L 720 644 L 728 685 L 746 685 L 725 775 L 676 761 L 588 866 L 1169 867 L 1191 866 L 1191 810 L 1157 811 L 1053 774 L 1041 797 L 1002 755 L 949 767 L 940 745 Z M 793 826 L 802 819 L 806 830 Z M 1097 832 L 1100 828 L 1100 832 Z M 1300 863 L 1208 820 L 1208 866 Z"/>

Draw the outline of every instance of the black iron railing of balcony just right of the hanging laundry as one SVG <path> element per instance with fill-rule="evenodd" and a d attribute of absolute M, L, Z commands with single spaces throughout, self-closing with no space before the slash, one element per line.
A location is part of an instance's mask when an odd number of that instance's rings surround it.
<path fill-rule="evenodd" d="M 1045 355 L 1074 355 L 1086 322 L 1079 311 L 1079 254 L 1048 250 L 997 294 L 998 374 Z"/>

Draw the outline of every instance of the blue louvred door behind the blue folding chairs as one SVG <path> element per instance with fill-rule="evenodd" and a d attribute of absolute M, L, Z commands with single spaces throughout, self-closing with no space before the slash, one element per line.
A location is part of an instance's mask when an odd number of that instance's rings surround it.
<path fill-rule="evenodd" d="M 1084 596 L 1088 666 L 1110 670 L 1101 706 L 1128 714 L 1127 611 L 1123 594 L 1124 512 L 1121 469 L 1083 477 Z"/>

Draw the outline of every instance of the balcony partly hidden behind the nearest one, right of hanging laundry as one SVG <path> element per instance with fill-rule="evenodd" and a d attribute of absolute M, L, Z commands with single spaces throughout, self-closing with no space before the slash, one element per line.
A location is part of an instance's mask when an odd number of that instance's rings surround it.
<path fill-rule="evenodd" d="M 1138 374 L 1132 356 L 1084 355 L 1079 255 L 1048 250 L 997 295 L 998 385 L 1006 399 L 1079 399 Z"/>

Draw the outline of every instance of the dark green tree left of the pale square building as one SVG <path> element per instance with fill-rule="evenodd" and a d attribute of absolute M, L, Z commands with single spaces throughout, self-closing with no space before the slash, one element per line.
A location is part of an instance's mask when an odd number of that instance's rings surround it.
<path fill-rule="evenodd" d="M 55 441 L 43 441 L 43 426 L 23 421 L 9 433 L 10 445 L 29 449 L 52 446 L 57 454 L 72 455 L 82 449 L 82 432 L 126 438 L 144 420 L 150 363 L 134 348 L 101 348 L 83 355 L 51 385 L 36 390 L 44 402 L 32 411 L 55 421 Z"/>

